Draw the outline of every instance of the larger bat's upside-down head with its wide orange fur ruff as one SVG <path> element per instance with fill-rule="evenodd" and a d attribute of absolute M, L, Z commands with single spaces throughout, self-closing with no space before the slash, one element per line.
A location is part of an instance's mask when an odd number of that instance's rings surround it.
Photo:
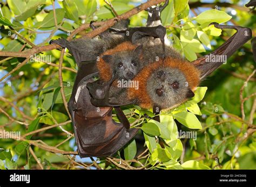
<path fill-rule="evenodd" d="M 194 96 L 199 75 L 190 62 L 167 57 L 150 64 L 133 78 L 138 81 L 139 89 L 129 88 L 128 95 L 145 109 L 153 106 L 170 109 Z"/>

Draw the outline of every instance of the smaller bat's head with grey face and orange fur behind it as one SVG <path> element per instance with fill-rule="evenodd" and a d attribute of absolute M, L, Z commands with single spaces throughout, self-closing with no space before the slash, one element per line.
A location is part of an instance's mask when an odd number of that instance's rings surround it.
<path fill-rule="evenodd" d="M 109 81 L 113 71 L 116 71 L 118 79 L 131 80 L 141 69 L 142 51 L 142 46 L 132 45 L 131 42 L 123 42 L 106 51 L 97 63 L 100 78 Z"/>

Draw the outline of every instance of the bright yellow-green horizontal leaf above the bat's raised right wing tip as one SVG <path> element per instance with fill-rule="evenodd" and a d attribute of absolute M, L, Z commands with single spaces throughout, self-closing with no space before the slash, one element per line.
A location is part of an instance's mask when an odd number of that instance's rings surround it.
<path fill-rule="evenodd" d="M 228 15 L 224 11 L 212 9 L 200 13 L 200 15 L 198 15 L 195 20 L 199 24 L 210 24 L 212 22 L 217 22 L 220 24 L 230 20 L 231 18 L 232 16 Z"/>

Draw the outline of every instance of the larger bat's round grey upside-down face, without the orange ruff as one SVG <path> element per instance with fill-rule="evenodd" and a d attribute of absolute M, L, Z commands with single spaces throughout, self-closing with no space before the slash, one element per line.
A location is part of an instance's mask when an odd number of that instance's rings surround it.
<path fill-rule="evenodd" d="M 194 96 L 185 75 L 176 68 L 156 69 L 147 80 L 146 88 L 152 102 L 161 109 L 169 109 Z"/>

